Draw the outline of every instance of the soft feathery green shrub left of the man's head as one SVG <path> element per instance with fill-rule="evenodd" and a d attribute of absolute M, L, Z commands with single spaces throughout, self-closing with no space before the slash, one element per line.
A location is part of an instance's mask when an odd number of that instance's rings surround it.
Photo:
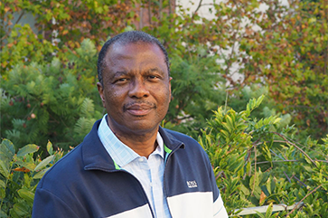
<path fill-rule="evenodd" d="M 68 61 L 16 65 L 0 81 L 0 136 L 16 147 L 29 143 L 66 150 L 80 144 L 102 117 L 97 82 L 97 50 L 84 40 Z M 45 147 L 42 147 L 45 150 Z"/>

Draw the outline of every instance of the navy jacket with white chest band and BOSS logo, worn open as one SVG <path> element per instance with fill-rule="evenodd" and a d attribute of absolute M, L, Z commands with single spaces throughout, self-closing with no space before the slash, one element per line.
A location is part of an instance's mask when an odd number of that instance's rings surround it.
<path fill-rule="evenodd" d="M 34 218 L 155 217 L 142 185 L 119 169 L 101 144 L 99 123 L 42 177 L 34 197 Z M 172 217 L 226 214 L 201 146 L 181 133 L 159 131 L 165 145 L 164 194 Z"/>

